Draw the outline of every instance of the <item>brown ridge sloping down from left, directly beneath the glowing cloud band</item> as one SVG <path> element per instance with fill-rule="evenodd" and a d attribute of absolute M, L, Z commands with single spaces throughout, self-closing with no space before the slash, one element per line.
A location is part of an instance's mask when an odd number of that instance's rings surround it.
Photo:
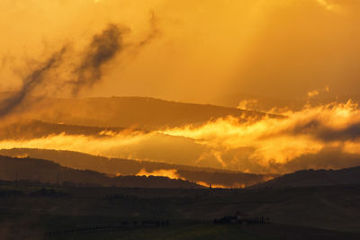
<path fill-rule="evenodd" d="M 57 151 L 47 149 L 32 148 L 13 148 L 0 149 L 0 154 L 4 156 L 30 156 L 53 161 L 63 166 L 81 169 L 93 170 L 101 173 L 135 175 L 146 170 L 152 173 L 158 170 L 175 170 L 180 178 L 191 182 L 202 182 L 216 187 L 217 185 L 225 187 L 247 187 L 259 182 L 265 182 L 278 175 L 275 174 L 254 174 L 240 173 L 229 170 L 220 170 L 206 167 L 187 166 L 180 164 L 166 164 L 148 161 L 135 161 L 120 158 L 107 158 L 103 156 L 91 156 L 87 154 Z"/>

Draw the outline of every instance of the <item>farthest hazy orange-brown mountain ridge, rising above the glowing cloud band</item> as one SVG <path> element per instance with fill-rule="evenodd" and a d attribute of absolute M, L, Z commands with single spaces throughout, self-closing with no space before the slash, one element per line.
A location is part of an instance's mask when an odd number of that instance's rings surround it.
<path fill-rule="evenodd" d="M 234 117 L 261 118 L 259 111 L 209 104 L 169 102 L 147 97 L 102 97 L 85 99 L 44 99 L 32 105 L 29 118 L 72 125 L 166 129 L 208 120 Z M 272 117 L 279 117 L 271 115 Z"/>

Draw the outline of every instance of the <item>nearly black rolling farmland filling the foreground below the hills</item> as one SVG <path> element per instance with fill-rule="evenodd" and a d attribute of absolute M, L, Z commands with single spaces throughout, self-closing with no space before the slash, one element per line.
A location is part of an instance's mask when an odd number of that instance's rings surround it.
<path fill-rule="evenodd" d="M 5 239 L 360 237 L 360 186 L 211 190 L 3 185 L 0 196 Z M 271 223 L 212 223 L 238 210 L 266 216 Z"/>

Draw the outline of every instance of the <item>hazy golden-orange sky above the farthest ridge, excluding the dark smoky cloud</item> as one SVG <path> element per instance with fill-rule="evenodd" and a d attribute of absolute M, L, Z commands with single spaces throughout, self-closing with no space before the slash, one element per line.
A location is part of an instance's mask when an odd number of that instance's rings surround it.
<path fill-rule="evenodd" d="M 0 90 L 21 87 L 63 46 L 74 52 L 65 60 L 71 65 L 115 24 L 125 50 L 79 96 L 213 103 L 242 93 L 302 98 L 327 87 L 358 94 L 359 7 L 356 0 L 2 0 Z"/>

